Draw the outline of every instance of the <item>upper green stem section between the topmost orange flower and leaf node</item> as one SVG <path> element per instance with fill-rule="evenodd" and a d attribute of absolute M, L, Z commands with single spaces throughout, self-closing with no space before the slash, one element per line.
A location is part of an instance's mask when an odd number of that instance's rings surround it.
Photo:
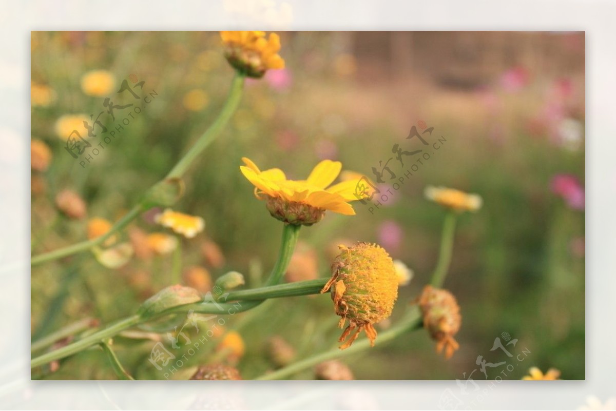
<path fill-rule="evenodd" d="M 219 114 L 212 126 L 210 126 L 209 129 L 206 130 L 201 137 L 199 137 L 197 143 L 195 143 L 190 150 L 184 154 L 184 157 L 176 164 L 176 166 L 171 169 L 166 178 L 182 177 L 188 167 L 190 167 L 190 164 L 192 164 L 192 162 L 195 161 L 195 158 L 201 154 L 201 151 L 205 150 L 205 148 L 214 141 L 214 138 L 216 138 L 222 129 L 224 129 L 225 125 L 233 115 L 233 112 L 235 112 L 237 106 L 240 104 L 243 86 L 244 76 L 236 73 L 231 84 L 231 89 L 229 90 L 229 95 L 227 96 L 227 101 L 222 107 L 221 114 Z"/>

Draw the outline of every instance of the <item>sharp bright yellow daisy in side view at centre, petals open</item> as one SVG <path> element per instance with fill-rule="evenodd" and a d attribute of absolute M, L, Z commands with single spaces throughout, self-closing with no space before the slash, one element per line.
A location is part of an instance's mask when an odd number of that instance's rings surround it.
<path fill-rule="evenodd" d="M 339 161 L 323 160 L 310 172 L 306 180 L 287 180 L 280 169 L 259 170 L 248 158 L 241 173 L 255 186 L 254 195 L 265 200 L 270 214 L 288 224 L 312 225 L 318 223 L 326 210 L 344 215 L 355 215 L 349 201 L 357 200 L 355 187 L 359 180 L 347 180 L 329 188 L 340 174 Z"/>

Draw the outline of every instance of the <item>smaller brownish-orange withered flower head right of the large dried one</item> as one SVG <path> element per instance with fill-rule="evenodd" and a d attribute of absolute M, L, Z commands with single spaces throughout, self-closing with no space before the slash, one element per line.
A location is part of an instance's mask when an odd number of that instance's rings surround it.
<path fill-rule="evenodd" d="M 426 285 L 419 296 L 419 308 L 423 315 L 424 328 L 436 340 L 436 352 L 445 349 L 445 358 L 450 358 L 458 349 L 453 336 L 460 330 L 462 316 L 460 306 L 453 294 L 447 290 Z"/>

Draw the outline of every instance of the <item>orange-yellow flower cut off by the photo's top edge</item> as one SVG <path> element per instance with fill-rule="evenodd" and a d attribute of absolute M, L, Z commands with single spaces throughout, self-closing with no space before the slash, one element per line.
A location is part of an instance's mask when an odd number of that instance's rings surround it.
<path fill-rule="evenodd" d="M 278 55 L 280 37 L 264 31 L 221 31 L 227 49 L 227 61 L 248 77 L 261 78 L 269 69 L 285 68 L 285 60 Z"/>

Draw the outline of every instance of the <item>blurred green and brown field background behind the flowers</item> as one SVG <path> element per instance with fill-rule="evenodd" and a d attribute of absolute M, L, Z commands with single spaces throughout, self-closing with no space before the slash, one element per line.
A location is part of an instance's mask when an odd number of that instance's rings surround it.
<path fill-rule="evenodd" d="M 461 348 L 445 361 L 419 330 L 344 362 L 357 379 L 464 380 L 477 369 L 479 355 L 506 360 L 501 351 L 490 351 L 506 332 L 518 340 L 513 351 L 527 348 L 530 354 L 503 378 L 519 379 L 535 365 L 544 371 L 555 367 L 563 379 L 584 379 L 585 215 L 583 204 L 571 206 L 553 190 L 557 175 L 575 176 L 582 186 L 585 180 L 583 33 L 281 37 L 285 71 L 248 82 L 230 125 L 185 178 L 185 195 L 174 209 L 203 217 L 206 229 L 180 240 L 182 265 L 205 266 L 214 279 L 240 271 L 250 285 L 274 263 L 281 224 L 254 198 L 253 186 L 239 171 L 241 157 L 297 179 L 326 158 L 374 177 L 371 168 L 392 156 L 392 145 L 421 148 L 418 140 L 405 137 L 425 121 L 434 127 L 429 142 L 441 137 L 446 142 L 393 198 L 372 212 L 355 202 L 354 217 L 328 213 L 317 225 L 302 228 L 301 241 L 314 250 L 321 277 L 329 276 L 331 247 L 341 241 L 379 242 L 405 262 L 415 277 L 400 288 L 395 323 L 436 263 L 444 210 L 424 198 L 425 186 L 480 194 L 484 207 L 459 218 L 445 282 L 461 306 Z M 54 127 L 60 116 L 104 110 L 104 98 L 85 95 L 79 84 L 84 73 L 99 69 L 113 73 L 117 87 L 134 74 L 145 81 L 144 92 L 155 90 L 156 97 L 121 137 L 82 167 Z M 120 218 L 216 118 L 233 70 L 218 33 L 34 32 L 31 76 L 33 84 L 46 85 L 55 95 L 31 111 L 32 138 L 46 142 L 53 153 L 49 169 L 33 171 L 36 255 L 86 239 L 85 219 L 69 220 L 55 209 L 57 193 L 76 191 L 87 204 L 87 217 Z M 395 159 L 390 163 L 398 177 L 414 161 L 404 160 L 406 167 Z M 146 218 L 132 226 L 162 231 Z M 202 252 L 206 240 L 219 245 L 224 263 L 208 265 Z M 107 269 L 83 253 L 34 266 L 33 340 L 84 317 L 107 323 L 134 313 L 145 298 L 169 285 L 171 264 L 171 255 L 133 257 L 119 269 Z M 301 271 L 310 263 L 296 264 Z M 267 301 L 230 317 L 227 328 L 237 326 L 243 337 L 246 352 L 238 369 L 249 379 L 273 369 L 265 355 L 272 335 L 284 337 L 303 358 L 336 345 L 337 321 L 330 298 L 302 297 Z M 164 378 L 147 361 L 153 344 L 118 338 L 114 347 L 134 377 Z M 215 347 L 200 351 L 190 365 L 207 362 Z M 499 372 L 488 369 L 488 378 Z M 99 350 L 71 357 L 41 377 L 116 378 Z M 306 371 L 294 378 L 314 377 Z M 473 378 L 484 377 L 476 372 Z"/>

